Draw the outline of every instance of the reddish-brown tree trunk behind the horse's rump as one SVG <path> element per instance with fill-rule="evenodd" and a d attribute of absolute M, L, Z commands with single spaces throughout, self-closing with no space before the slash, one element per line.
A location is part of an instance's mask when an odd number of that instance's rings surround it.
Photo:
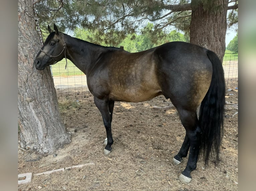
<path fill-rule="evenodd" d="M 191 1 L 190 43 L 215 52 L 222 62 L 226 48 L 228 0 L 215 0 L 213 6 L 205 9 L 198 2 Z"/>

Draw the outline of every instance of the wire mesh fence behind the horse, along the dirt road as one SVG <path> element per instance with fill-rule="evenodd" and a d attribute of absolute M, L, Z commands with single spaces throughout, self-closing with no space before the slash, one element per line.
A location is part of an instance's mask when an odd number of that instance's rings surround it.
<path fill-rule="evenodd" d="M 58 101 L 77 101 L 81 102 L 88 96 L 86 75 L 80 71 L 71 61 L 68 60 L 67 69 L 65 70 L 66 61 L 52 65 L 51 71 L 54 86 L 57 92 Z M 223 69 L 227 89 L 238 87 L 238 56 L 224 57 Z"/>

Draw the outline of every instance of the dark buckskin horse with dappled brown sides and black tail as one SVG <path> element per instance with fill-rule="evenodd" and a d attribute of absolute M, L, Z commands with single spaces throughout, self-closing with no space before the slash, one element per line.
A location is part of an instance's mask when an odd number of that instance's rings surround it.
<path fill-rule="evenodd" d="M 186 134 L 173 157 L 178 165 L 189 156 L 179 179 L 188 183 L 199 154 L 205 165 L 209 157 L 219 161 L 223 137 L 225 79 L 218 56 L 186 42 L 169 42 L 136 53 L 104 47 L 54 31 L 34 59 L 34 67 L 44 70 L 63 58 L 69 59 L 87 78 L 89 91 L 99 109 L 107 138 L 104 153 L 112 151 L 111 122 L 115 101 L 141 102 L 164 95 L 177 109 Z M 201 105 L 200 105 L 201 104 Z M 199 116 L 197 108 L 200 106 Z"/>

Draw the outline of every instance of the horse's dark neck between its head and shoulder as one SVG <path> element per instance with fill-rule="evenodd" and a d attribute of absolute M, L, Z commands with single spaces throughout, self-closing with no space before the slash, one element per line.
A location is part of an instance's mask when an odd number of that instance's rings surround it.
<path fill-rule="evenodd" d="M 95 45 L 71 36 L 65 36 L 65 38 L 67 41 L 67 58 L 85 74 L 96 63 L 99 55 L 107 49 L 107 47 Z"/>

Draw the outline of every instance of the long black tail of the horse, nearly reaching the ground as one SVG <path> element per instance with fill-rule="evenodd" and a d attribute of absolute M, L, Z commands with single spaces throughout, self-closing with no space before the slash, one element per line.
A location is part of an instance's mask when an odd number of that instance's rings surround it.
<path fill-rule="evenodd" d="M 216 157 L 215 163 L 218 164 L 224 125 L 225 79 L 217 55 L 208 50 L 207 56 L 213 65 L 213 76 L 200 107 L 199 122 L 203 130 L 201 150 L 205 156 L 205 164 L 208 164 L 210 153 Z"/>

